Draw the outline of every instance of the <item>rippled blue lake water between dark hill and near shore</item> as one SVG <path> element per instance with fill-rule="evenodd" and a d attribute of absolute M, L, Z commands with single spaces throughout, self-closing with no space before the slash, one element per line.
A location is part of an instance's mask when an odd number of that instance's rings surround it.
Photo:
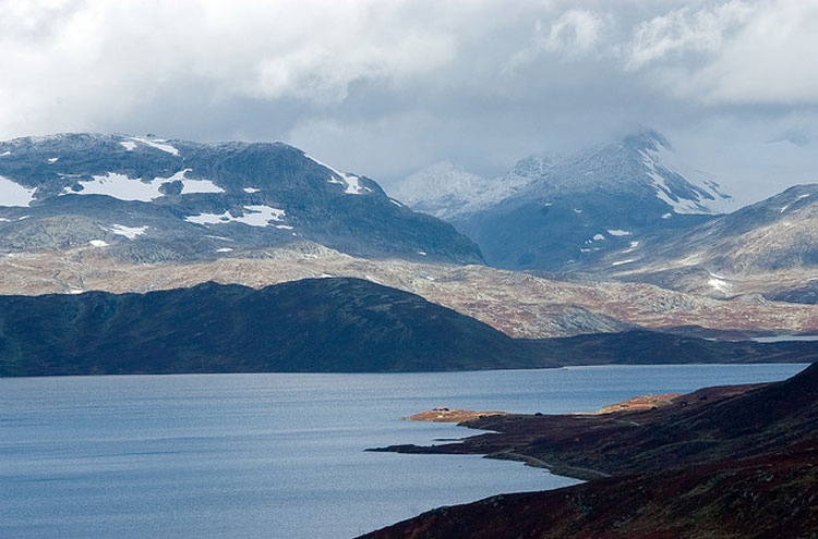
<path fill-rule="evenodd" d="M 352 537 L 440 505 L 576 482 L 479 456 L 363 452 L 476 433 L 401 416 L 589 412 L 804 367 L 0 379 L 0 537 Z"/>

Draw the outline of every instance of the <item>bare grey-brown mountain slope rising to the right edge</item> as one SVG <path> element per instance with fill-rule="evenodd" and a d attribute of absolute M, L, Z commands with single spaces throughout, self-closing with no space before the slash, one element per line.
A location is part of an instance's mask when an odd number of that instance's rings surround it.
<path fill-rule="evenodd" d="M 627 264 L 619 260 L 628 258 Z M 650 238 L 638 253 L 611 254 L 613 277 L 732 297 L 753 292 L 815 303 L 818 282 L 818 184 L 797 185 L 760 203 Z"/>

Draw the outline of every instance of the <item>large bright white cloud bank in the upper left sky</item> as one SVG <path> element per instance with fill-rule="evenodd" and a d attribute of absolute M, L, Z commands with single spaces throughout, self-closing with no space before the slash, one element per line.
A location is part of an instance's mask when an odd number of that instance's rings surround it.
<path fill-rule="evenodd" d="M 450 63 L 445 28 L 408 2 L 7 1 L 5 134 L 94 125 L 196 88 L 233 98 L 344 101 L 360 81 L 400 84 Z"/>

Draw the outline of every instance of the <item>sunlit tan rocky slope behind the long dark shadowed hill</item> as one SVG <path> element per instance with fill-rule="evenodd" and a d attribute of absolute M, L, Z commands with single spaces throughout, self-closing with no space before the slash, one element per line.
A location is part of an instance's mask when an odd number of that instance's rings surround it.
<path fill-rule="evenodd" d="M 0 257 L 4 294 L 149 292 L 206 281 L 261 289 L 327 275 L 366 279 L 411 292 L 518 338 L 624 331 L 636 326 L 733 339 L 818 332 L 815 305 L 760 296 L 720 301 L 649 284 L 557 280 L 484 266 L 369 260 L 312 243 L 236 250 L 217 260 L 185 264 L 123 262 L 110 256 L 108 247 L 93 246 Z"/>

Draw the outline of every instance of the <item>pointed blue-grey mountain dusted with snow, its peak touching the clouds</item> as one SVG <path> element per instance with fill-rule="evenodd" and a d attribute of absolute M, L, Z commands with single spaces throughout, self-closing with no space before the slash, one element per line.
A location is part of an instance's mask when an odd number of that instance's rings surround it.
<path fill-rule="evenodd" d="M 527 158 L 494 182 L 515 191 L 476 211 L 437 215 L 476 241 L 486 262 L 506 269 L 581 271 L 609 253 L 636 256 L 643 238 L 732 207 L 710 176 L 686 167 L 654 131 L 568 158 Z"/>

